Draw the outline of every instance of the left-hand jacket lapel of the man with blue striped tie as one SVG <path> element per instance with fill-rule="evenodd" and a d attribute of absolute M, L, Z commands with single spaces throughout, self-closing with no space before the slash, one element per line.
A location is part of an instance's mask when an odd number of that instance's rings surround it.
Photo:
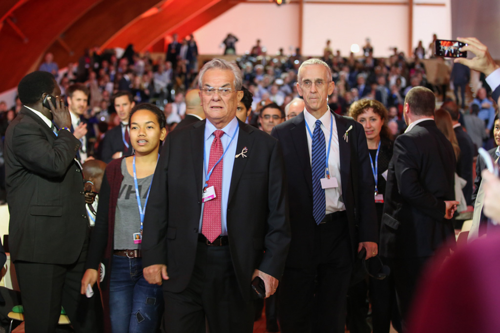
<path fill-rule="evenodd" d="M 304 111 L 306 112 L 306 111 Z M 307 146 L 307 137 L 305 133 L 305 118 L 303 112 L 294 117 L 292 120 L 293 125 L 290 129 L 290 135 L 297 154 L 297 162 L 300 163 L 302 168 L 305 182 L 309 187 L 309 192 L 312 193 L 312 171 L 309 158 L 309 147 Z"/>

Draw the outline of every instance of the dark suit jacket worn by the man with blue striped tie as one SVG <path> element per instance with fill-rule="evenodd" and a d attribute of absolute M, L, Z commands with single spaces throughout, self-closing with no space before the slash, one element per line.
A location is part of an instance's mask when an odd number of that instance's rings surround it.
<path fill-rule="evenodd" d="M 305 111 L 304 111 L 305 112 Z M 373 199 L 373 175 L 363 127 L 350 117 L 332 113 L 338 133 L 342 201 L 349 224 L 352 256 L 359 242 L 377 242 L 378 231 Z M 348 142 L 343 139 L 352 125 Z M 292 238 L 286 260 L 287 267 L 306 267 L 314 260 L 314 229 L 312 216 L 312 171 L 303 113 L 272 129 L 279 140 L 285 160 L 290 227 Z"/>

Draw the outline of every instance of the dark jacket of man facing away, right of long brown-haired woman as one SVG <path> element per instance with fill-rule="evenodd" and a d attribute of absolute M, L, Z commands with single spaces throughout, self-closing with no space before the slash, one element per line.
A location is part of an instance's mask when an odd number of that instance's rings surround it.
<path fill-rule="evenodd" d="M 474 144 L 470 136 L 463 130 L 463 127 L 454 128 L 456 141 L 460 147 L 460 155 L 456 162 L 456 173 L 467 181 L 462 189 L 467 206 L 472 202 L 472 160 L 474 159 Z"/>

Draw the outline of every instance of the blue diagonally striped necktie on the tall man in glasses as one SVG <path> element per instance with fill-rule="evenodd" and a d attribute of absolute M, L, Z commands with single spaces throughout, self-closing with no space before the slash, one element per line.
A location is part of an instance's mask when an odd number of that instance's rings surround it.
<path fill-rule="evenodd" d="M 321 178 L 324 177 L 326 166 L 326 143 L 321 130 L 321 120 L 316 120 L 312 133 L 312 216 L 317 224 L 324 218 L 326 203 L 324 189 L 321 188 Z"/>

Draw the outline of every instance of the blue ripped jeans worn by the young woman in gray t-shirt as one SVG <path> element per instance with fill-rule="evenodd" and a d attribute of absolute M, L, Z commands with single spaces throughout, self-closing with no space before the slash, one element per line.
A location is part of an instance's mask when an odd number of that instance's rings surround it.
<path fill-rule="evenodd" d="M 142 260 L 114 256 L 109 276 L 112 333 L 155 333 L 163 315 L 161 286 L 142 276 Z"/>

